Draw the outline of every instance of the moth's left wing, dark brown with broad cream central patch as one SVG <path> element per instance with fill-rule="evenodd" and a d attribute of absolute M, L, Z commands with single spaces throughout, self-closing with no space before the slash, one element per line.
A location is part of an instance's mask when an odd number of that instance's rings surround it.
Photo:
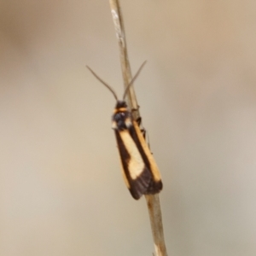
<path fill-rule="evenodd" d="M 147 194 L 152 180 L 151 172 L 145 165 L 130 132 L 128 130 L 115 131 L 115 135 L 126 186 L 132 197 L 139 199 L 142 195 Z"/>

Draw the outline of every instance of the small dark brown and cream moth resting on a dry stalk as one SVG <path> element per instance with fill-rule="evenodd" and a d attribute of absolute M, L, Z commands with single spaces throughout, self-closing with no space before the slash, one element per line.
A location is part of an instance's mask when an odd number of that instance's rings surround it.
<path fill-rule="evenodd" d="M 136 200 L 142 195 L 157 194 L 163 188 L 160 171 L 155 163 L 153 154 L 148 148 L 137 120 L 132 118 L 131 111 L 129 111 L 125 102 L 125 96 L 131 84 L 137 79 L 145 63 L 146 61 L 143 62 L 143 65 L 126 87 L 122 101 L 119 101 L 112 87 L 100 79 L 90 67 L 87 67 L 96 79 L 99 79 L 102 84 L 108 87 L 116 99 L 112 116 L 112 128 L 119 148 L 125 184 L 130 190 L 132 197 Z"/>

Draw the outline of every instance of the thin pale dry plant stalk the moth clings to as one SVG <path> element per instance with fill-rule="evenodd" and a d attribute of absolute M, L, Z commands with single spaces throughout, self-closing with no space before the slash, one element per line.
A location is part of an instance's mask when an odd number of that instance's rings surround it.
<path fill-rule="evenodd" d="M 125 88 L 131 81 L 131 67 L 127 54 L 127 46 L 125 41 L 125 28 L 119 0 L 109 0 L 111 14 L 113 17 L 113 24 L 116 32 L 116 36 L 119 43 L 119 55 L 121 68 L 123 73 Z M 140 117 L 138 110 L 137 98 L 133 86 L 131 85 L 127 94 L 127 103 L 130 109 L 132 109 L 132 115 L 134 119 Z M 152 236 L 154 240 L 155 256 L 167 256 L 166 243 L 164 238 L 164 230 L 162 224 L 162 214 L 160 209 L 159 195 L 145 195 L 147 201 L 148 213 L 150 218 Z"/>

